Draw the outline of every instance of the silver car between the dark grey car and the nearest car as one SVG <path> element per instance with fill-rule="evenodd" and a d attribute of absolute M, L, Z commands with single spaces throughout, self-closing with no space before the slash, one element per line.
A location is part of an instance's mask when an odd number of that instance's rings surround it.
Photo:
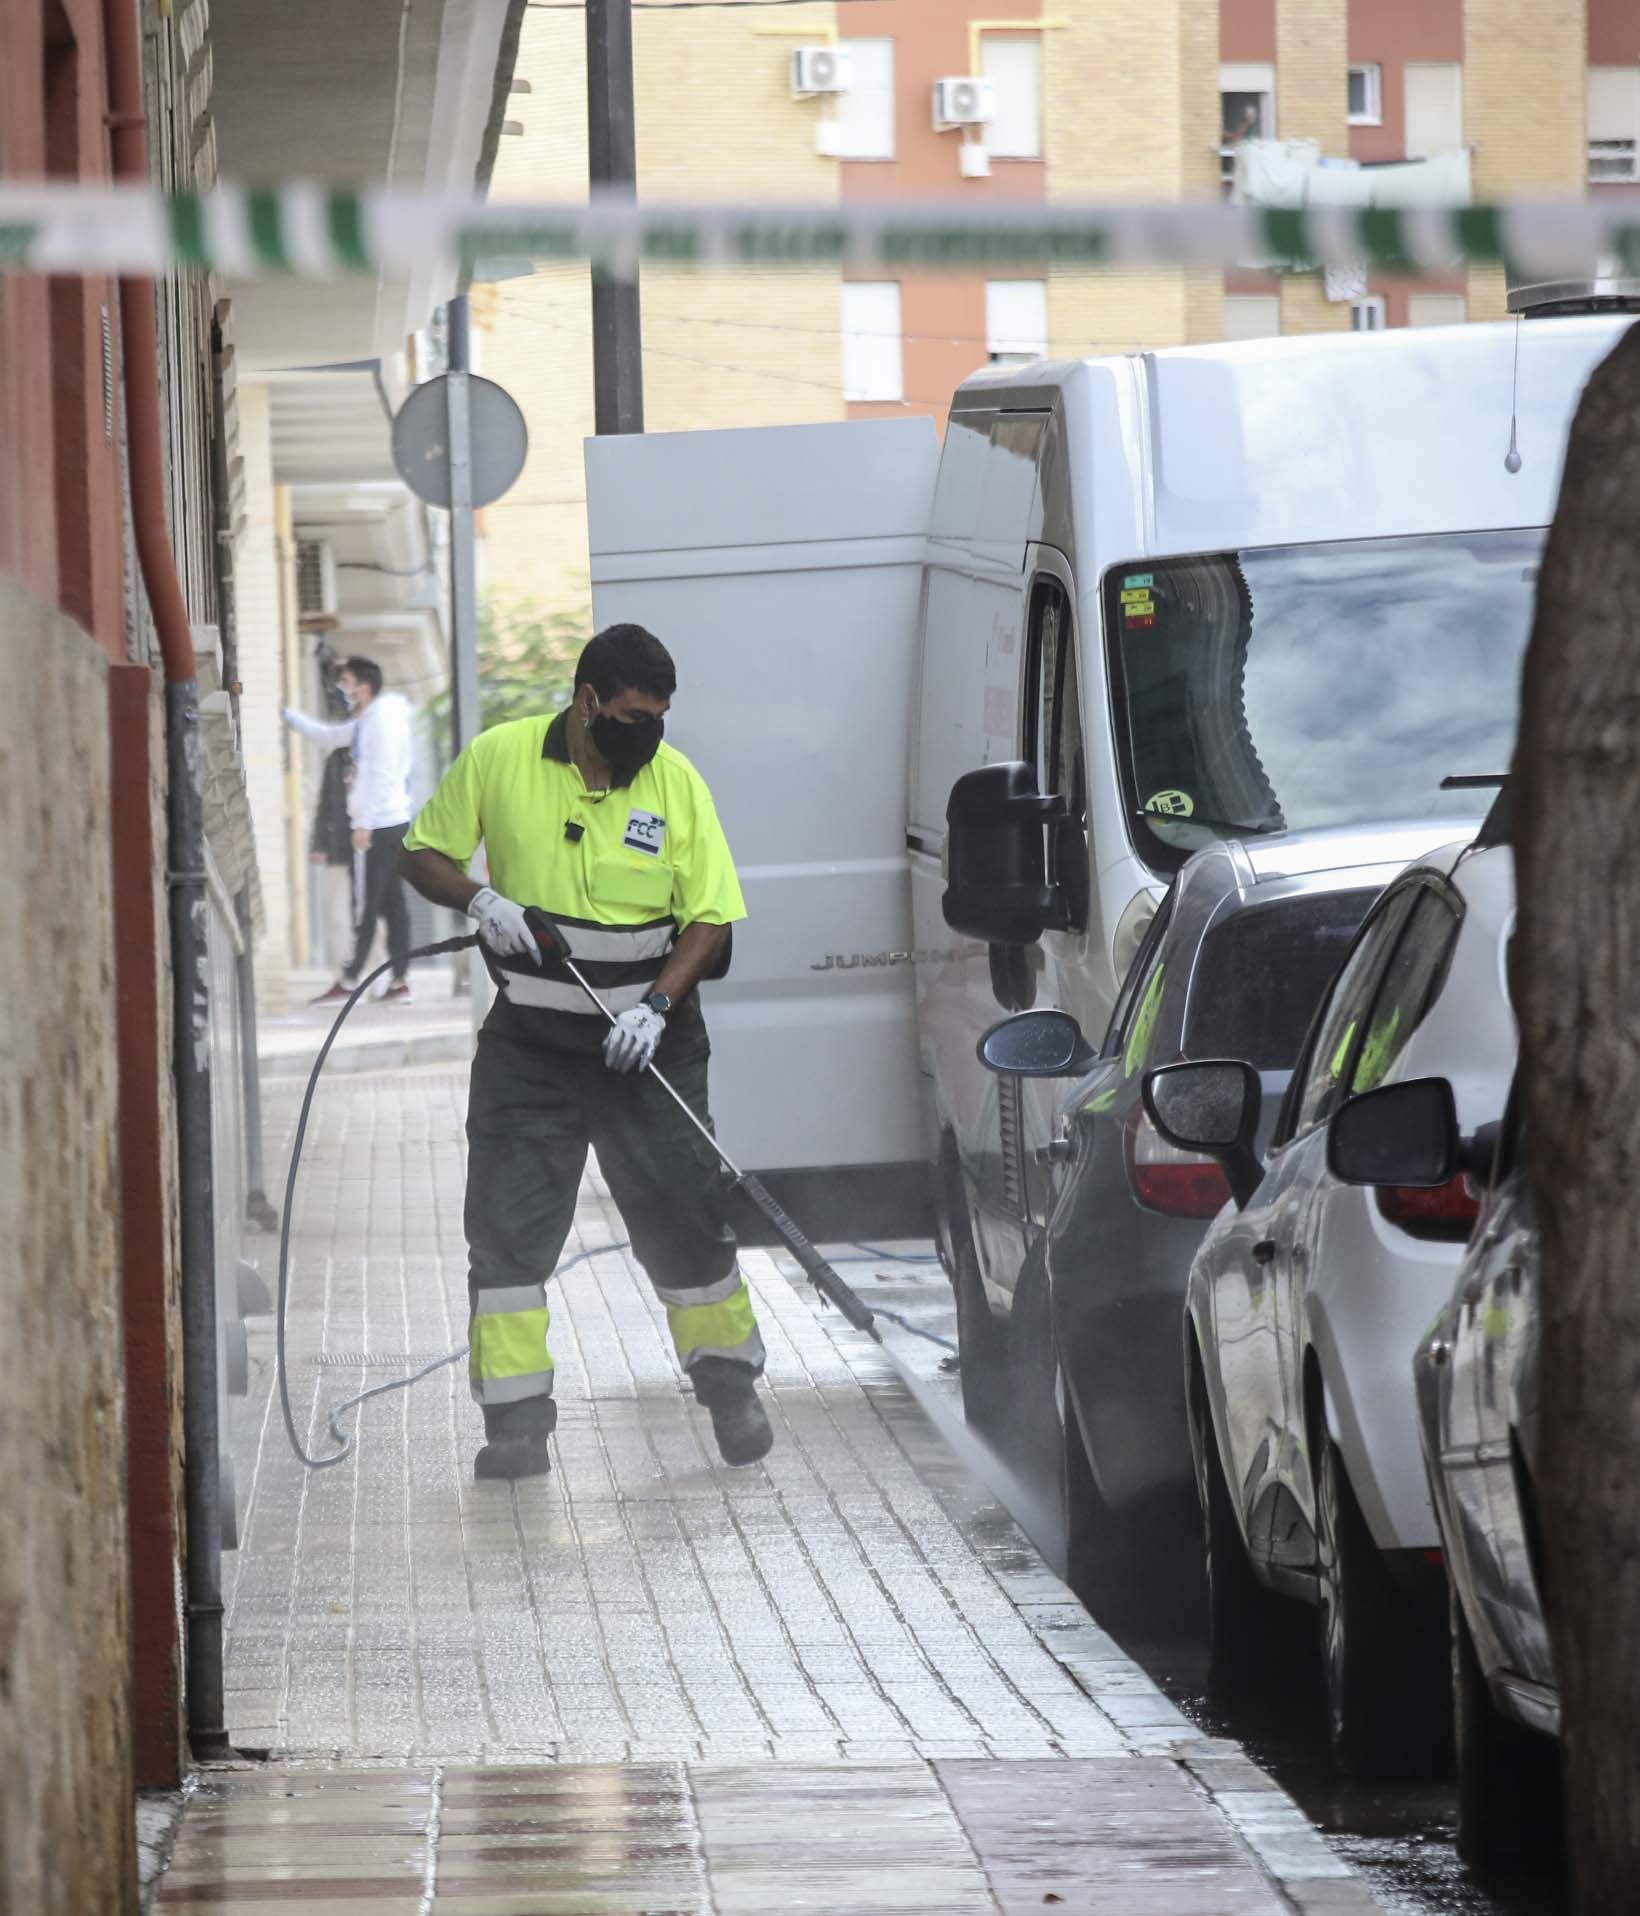
<path fill-rule="evenodd" d="M 1466 1138 L 1498 1121 L 1512 924 L 1506 845 L 1446 847 L 1391 885 L 1266 1153 L 1245 1061 L 1146 1083 L 1157 1129 L 1217 1152 L 1236 1192 L 1192 1266 L 1184 1324 L 1215 1678 L 1291 1680 L 1307 1632 L 1287 1600 L 1316 1606 L 1333 1753 L 1362 1776 L 1427 1770 L 1445 1749 L 1446 1586 L 1408 1353 L 1452 1289 L 1477 1207 L 1471 1161 L 1441 1180 L 1374 1176 L 1343 1146 L 1372 1115 L 1364 1092 L 1435 1075 Z"/>

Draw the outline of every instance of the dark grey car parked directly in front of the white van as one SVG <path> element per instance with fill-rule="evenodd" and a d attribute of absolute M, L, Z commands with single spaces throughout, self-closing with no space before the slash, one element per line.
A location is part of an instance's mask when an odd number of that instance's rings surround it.
<path fill-rule="evenodd" d="M 1228 1186 L 1211 1157 L 1157 1134 L 1144 1075 L 1249 1058 L 1274 1111 L 1368 906 L 1443 833 L 1450 824 L 1209 845 L 1163 899 L 1098 1054 L 1063 1012 L 1021 1012 L 981 1046 L 1004 1075 L 1079 1083 L 1048 1161 L 1021 1171 L 1044 1226 L 1012 1299 L 960 1272 L 964 1399 L 1046 1487 L 1059 1533 L 1038 1542 L 1102 1615 L 1134 1602 L 1155 1615 L 1199 1586 L 1178 1339 L 1190 1261 Z"/>

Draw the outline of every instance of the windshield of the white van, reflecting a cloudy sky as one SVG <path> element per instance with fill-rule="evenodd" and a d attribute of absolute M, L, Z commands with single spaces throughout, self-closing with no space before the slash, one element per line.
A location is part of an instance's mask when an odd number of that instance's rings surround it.
<path fill-rule="evenodd" d="M 1134 849 L 1471 818 L 1508 768 L 1542 531 L 1142 559 L 1105 577 Z M 1483 807 L 1485 809 L 1485 807 Z"/>

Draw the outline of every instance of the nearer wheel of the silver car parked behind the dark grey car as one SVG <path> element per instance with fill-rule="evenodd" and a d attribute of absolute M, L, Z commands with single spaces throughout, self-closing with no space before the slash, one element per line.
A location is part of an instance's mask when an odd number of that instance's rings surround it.
<path fill-rule="evenodd" d="M 1347 1776 L 1429 1776 L 1446 1755 L 1439 1623 L 1389 1575 L 1337 1445 L 1320 1435 L 1316 1556 L 1328 1740 Z"/>

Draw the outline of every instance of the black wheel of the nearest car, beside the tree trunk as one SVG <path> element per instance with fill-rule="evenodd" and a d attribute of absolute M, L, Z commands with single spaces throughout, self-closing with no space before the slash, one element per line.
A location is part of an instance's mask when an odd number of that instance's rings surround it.
<path fill-rule="evenodd" d="M 1565 1855 L 1560 1745 L 1498 1711 L 1456 1592 L 1450 1613 L 1458 1855 L 1483 1876 L 1554 1870 Z"/>

